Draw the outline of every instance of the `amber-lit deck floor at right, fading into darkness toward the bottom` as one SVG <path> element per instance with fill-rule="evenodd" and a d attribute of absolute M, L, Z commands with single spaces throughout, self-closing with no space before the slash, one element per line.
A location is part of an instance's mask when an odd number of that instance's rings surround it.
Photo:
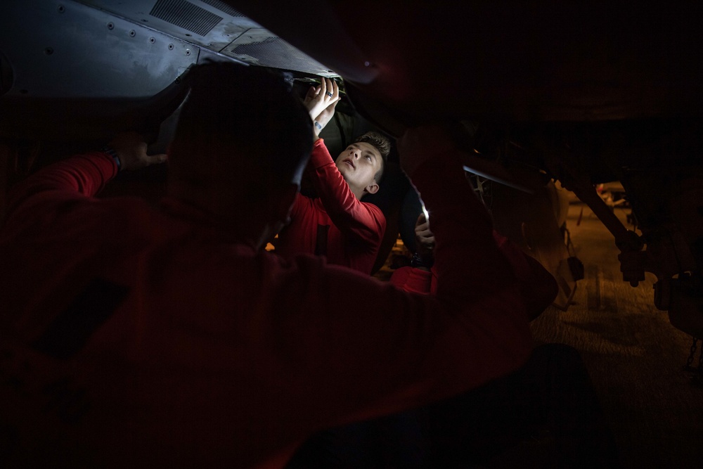
<path fill-rule="evenodd" d="M 627 212 L 616 209 L 623 223 Z M 703 387 L 683 371 L 692 338 L 654 307 L 654 276 L 637 288 L 622 281 L 613 237 L 586 205 L 570 205 L 567 228 L 586 278 L 568 311 L 550 307 L 533 321 L 536 342 L 579 349 L 624 468 L 701 467 Z"/>

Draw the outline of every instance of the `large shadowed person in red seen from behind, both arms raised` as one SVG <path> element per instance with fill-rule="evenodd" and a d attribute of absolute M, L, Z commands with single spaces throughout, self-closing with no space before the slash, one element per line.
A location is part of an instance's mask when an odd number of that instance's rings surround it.
<path fill-rule="evenodd" d="M 309 117 L 262 70 L 193 74 L 158 210 L 92 198 L 117 173 L 100 152 L 11 194 L 0 231 L 0 424 L 12 440 L 2 465 L 278 467 L 316 430 L 522 364 L 531 340 L 520 293 L 437 131 L 408 132 L 400 146 L 433 214 L 438 288 L 427 297 L 264 252 L 295 198 Z M 136 141 L 113 146 L 124 169 L 146 164 Z M 484 268 L 465 269 L 469 256 Z"/>

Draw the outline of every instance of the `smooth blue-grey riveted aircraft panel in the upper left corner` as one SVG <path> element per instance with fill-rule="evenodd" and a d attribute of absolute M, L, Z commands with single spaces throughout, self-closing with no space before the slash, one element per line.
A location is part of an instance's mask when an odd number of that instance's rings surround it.
<path fill-rule="evenodd" d="M 148 98 L 198 60 L 199 48 L 73 1 L 0 5 L 7 97 Z"/>

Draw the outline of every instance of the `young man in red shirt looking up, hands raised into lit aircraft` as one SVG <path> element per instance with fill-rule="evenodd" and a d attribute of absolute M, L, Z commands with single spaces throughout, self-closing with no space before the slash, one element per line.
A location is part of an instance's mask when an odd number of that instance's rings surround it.
<path fill-rule="evenodd" d="M 332 119 L 339 102 L 337 83 L 322 79 L 304 102 L 314 122 L 307 174 L 318 198 L 297 195 L 290 224 L 278 235 L 276 253 L 286 258 L 302 253 L 324 255 L 330 264 L 370 274 L 386 219 L 378 207 L 361 199 L 378 191 L 390 143 L 369 132 L 333 160 L 319 132 Z"/>

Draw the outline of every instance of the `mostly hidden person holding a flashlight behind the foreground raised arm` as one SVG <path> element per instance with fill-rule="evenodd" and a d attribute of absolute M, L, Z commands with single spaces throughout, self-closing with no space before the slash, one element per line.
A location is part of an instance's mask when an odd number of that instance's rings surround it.
<path fill-rule="evenodd" d="M 419 212 L 422 203 L 415 207 Z M 428 214 L 418 214 L 414 235 L 405 243 L 414 247 L 411 266 L 396 269 L 390 283 L 434 294 L 435 238 Z M 555 278 L 496 231 L 494 240 L 512 266 L 528 317 L 536 318 L 557 296 Z M 321 430 L 297 449 L 286 469 L 475 467 L 620 467 L 612 431 L 576 349 L 538 345 L 516 371 L 463 394 Z"/>

